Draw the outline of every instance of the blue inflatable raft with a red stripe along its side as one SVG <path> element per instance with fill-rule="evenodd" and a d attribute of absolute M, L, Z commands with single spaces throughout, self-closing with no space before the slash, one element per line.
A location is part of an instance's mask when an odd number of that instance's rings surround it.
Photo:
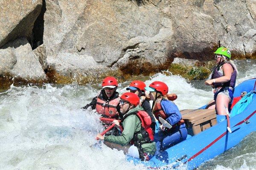
<path fill-rule="evenodd" d="M 256 79 L 246 80 L 236 86 L 234 97 L 241 92 L 250 93 L 256 85 Z M 203 106 L 200 109 L 204 109 Z M 195 169 L 205 161 L 220 155 L 226 150 L 241 142 L 245 136 L 256 131 L 256 95 L 253 95 L 250 104 L 244 110 L 230 118 L 232 133 L 227 131 L 227 120 L 218 123 L 183 142 L 172 146 L 150 161 L 140 161 L 127 156 L 128 161 L 134 164 L 145 164 L 149 169 L 172 169 L 185 164 L 188 170 Z M 157 133 L 157 132 L 156 132 Z"/>

